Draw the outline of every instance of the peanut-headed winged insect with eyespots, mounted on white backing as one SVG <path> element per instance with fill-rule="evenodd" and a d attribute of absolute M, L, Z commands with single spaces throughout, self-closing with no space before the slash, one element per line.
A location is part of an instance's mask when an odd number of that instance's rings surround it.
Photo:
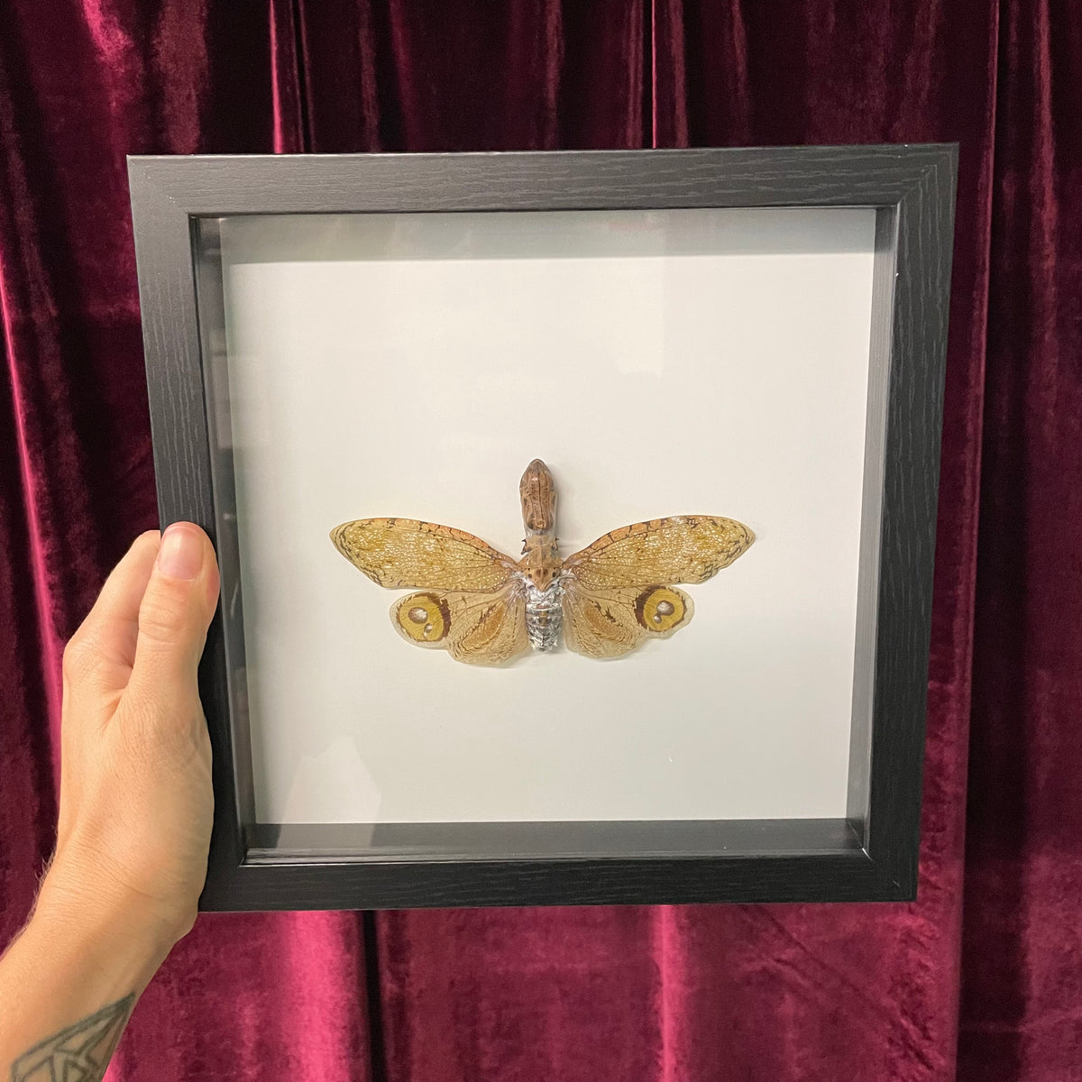
<path fill-rule="evenodd" d="M 705 582 L 748 550 L 755 535 L 733 518 L 677 515 L 623 526 L 560 559 L 556 488 L 535 459 L 519 484 L 522 559 L 450 526 L 413 518 L 360 518 L 331 541 L 373 582 L 419 590 L 395 602 L 391 622 L 418 646 L 456 661 L 498 665 L 528 647 L 564 643 L 588 658 L 616 658 L 691 621 L 677 582 Z"/>

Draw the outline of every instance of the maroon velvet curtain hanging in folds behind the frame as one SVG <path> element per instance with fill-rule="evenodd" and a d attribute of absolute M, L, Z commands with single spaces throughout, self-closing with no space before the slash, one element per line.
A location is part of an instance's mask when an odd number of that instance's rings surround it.
<path fill-rule="evenodd" d="M 1072 2 L 0 0 L 0 944 L 156 525 L 124 154 L 961 144 L 919 900 L 204 915 L 113 1078 L 1082 1079 Z"/>

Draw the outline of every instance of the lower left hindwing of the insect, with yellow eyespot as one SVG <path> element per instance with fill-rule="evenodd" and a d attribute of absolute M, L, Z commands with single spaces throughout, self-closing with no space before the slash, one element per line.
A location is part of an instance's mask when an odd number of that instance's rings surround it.
<path fill-rule="evenodd" d="M 391 622 L 407 642 L 446 649 L 467 664 L 503 664 L 529 646 L 525 591 L 518 581 L 492 594 L 408 594 L 391 606 Z"/>

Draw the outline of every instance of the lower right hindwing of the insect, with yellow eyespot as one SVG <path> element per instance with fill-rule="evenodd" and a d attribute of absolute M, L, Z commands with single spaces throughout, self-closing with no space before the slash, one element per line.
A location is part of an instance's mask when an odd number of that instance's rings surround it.
<path fill-rule="evenodd" d="M 618 658 L 647 638 L 668 638 L 695 615 L 691 598 L 675 586 L 591 590 L 564 581 L 564 643 L 588 658 Z"/>

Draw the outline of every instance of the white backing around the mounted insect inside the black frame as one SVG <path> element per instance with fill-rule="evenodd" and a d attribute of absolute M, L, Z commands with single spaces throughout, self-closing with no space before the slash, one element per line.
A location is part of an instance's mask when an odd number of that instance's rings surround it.
<path fill-rule="evenodd" d="M 236 215 L 198 240 L 253 847 L 857 844 L 875 209 Z M 686 628 L 619 659 L 486 668 L 404 641 L 408 591 L 331 529 L 424 519 L 517 559 L 538 457 L 564 557 L 672 515 L 756 540 L 682 588 Z"/>

